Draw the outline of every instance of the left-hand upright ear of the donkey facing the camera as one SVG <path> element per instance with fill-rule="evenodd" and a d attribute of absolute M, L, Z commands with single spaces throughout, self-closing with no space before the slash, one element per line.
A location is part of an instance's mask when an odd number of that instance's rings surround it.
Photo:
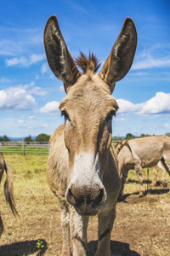
<path fill-rule="evenodd" d="M 68 88 L 81 76 L 81 73 L 78 71 L 66 47 L 55 15 L 51 16 L 47 21 L 43 41 L 48 65 L 56 77 L 64 82 L 65 92 L 67 92 Z"/>

